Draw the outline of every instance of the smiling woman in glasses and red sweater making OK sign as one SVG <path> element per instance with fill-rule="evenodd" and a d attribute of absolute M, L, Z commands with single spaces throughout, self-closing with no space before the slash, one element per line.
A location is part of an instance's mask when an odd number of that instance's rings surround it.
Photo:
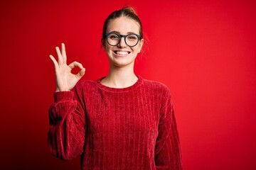
<path fill-rule="evenodd" d="M 50 152 L 81 169 L 182 169 L 169 89 L 134 74 L 143 46 L 142 23 L 125 7 L 106 19 L 102 45 L 110 61 L 107 77 L 79 81 L 85 68 L 66 64 L 65 45 L 56 47 L 57 89 L 50 106 Z M 79 67 L 76 75 L 71 73 Z M 78 82 L 79 81 L 79 82 Z"/>

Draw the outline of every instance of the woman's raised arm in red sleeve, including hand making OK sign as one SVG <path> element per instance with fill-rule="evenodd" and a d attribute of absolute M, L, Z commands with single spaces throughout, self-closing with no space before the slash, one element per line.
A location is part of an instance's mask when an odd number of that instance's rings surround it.
<path fill-rule="evenodd" d="M 50 152 L 60 159 L 73 159 L 82 153 L 85 142 L 85 111 L 79 98 L 82 98 L 80 88 L 73 89 L 79 79 L 85 74 L 85 68 L 78 62 L 67 65 L 65 45 L 61 44 L 61 52 L 56 47 L 58 62 L 53 55 L 56 77 L 55 103 L 50 106 L 50 129 L 48 145 Z M 73 68 L 80 68 L 78 74 L 73 74 Z M 71 91 L 71 89 L 73 89 Z"/>

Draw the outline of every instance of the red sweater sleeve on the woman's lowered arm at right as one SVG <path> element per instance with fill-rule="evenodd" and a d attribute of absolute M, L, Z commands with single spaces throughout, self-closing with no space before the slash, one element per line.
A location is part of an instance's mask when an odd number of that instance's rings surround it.
<path fill-rule="evenodd" d="M 182 169 L 181 147 L 169 90 L 163 94 L 162 99 L 159 135 L 155 149 L 156 169 L 180 170 Z"/>

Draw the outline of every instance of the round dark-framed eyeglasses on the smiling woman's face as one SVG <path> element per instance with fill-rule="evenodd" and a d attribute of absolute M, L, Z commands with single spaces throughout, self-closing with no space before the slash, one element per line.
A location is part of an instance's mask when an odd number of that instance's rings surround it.
<path fill-rule="evenodd" d="M 138 44 L 139 40 L 142 39 L 141 35 L 137 34 L 128 34 L 128 35 L 119 35 L 118 33 L 110 32 L 105 34 L 104 38 L 107 38 L 107 43 L 111 46 L 116 46 L 120 43 L 121 38 L 124 38 L 124 42 L 129 46 L 129 47 L 134 47 L 135 45 Z"/>

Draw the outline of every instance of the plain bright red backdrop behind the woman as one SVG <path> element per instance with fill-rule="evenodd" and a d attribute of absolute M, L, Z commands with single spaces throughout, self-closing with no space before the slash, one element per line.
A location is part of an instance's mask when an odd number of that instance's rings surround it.
<path fill-rule="evenodd" d="M 107 74 L 100 46 L 110 12 L 131 4 L 149 39 L 136 73 L 171 89 L 184 169 L 256 169 L 255 1 L 0 2 L 0 169 L 80 169 L 48 152 L 55 75 L 65 42 L 83 79 Z"/>

